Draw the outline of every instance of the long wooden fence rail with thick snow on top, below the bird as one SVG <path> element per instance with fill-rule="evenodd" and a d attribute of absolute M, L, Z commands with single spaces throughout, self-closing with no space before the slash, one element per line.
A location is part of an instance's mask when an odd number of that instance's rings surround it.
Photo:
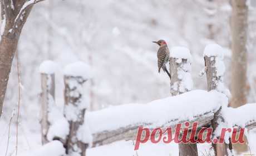
<path fill-rule="evenodd" d="M 222 93 L 194 90 L 146 104 L 121 105 L 89 112 L 86 122 L 89 123 L 95 146 L 134 139 L 139 126 L 174 129 L 178 123 L 197 121 L 201 127 L 210 123 L 220 106 L 227 104 L 227 97 Z"/>

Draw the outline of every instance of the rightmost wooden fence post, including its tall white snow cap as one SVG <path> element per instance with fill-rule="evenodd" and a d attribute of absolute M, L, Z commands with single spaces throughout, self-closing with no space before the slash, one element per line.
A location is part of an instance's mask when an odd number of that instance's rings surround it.
<path fill-rule="evenodd" d="M 218 44 L 207 45 L 204 49 L 204 61 L 205 61 L 205 72 L 207 78 L 207 88 L 210 90 L 217 90 L 219 92 L 225 93 L 229 96 L 229 91 L 223 85 L 223 75 L 225 71 L 225 65 L 223 63 L 223 48 Z M 211 121 L 211 126 L 213 127 L 213 132 L 218 127 L 218 122 L 225 123 L 224 118 L 221 116 L 221 107 L 215 115 L 214 119 Z M 214 153 L 218 156 L 229 155 L 232 153 L 232 146 L 228 144 L 213 144 Z M 230 150 L 229 152 L 227 151 Z"/>

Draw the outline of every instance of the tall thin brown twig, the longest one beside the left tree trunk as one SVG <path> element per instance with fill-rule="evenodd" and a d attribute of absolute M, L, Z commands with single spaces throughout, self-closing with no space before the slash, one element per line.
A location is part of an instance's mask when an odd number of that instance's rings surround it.
<path fill-rule="evenodd" d="M 18 155 L 18 124 L 19 124 L 19 107 L 21 103 L 21 75 L 19 72 L 19 59 L 18 59 L 18 50 L 16 50 L 17 58 L 17 71 L 18 71 L 18 112 L 17 112 L 17 127 L 16 127 L 16 156 Z"/>

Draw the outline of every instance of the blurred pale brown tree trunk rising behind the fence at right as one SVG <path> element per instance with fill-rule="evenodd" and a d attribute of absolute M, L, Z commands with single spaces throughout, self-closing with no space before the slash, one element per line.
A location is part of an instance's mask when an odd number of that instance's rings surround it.
<path fill-rule="evenodd" d="M 232 0 L 232 102 L 237 108 L 247 103 L 247 16 L 246 0 Z"/>

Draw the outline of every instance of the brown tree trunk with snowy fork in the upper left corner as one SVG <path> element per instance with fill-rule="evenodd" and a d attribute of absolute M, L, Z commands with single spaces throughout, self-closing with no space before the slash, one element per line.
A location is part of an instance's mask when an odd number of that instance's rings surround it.
<path fill-rule="evenodd" d="M 19 35 L 34 4 L 29 3 L 23 8 L 23 5 L 28 1 L 19 0 L 12 2 L 14 9 L 10 7 L 11 1 L 1 1 L 1 22 L 4 25 L 1 25 L 0 42 L 0 117 L 2 115 L 9 72 L 11 71 L 13 56 L 17 49 Z"/>

